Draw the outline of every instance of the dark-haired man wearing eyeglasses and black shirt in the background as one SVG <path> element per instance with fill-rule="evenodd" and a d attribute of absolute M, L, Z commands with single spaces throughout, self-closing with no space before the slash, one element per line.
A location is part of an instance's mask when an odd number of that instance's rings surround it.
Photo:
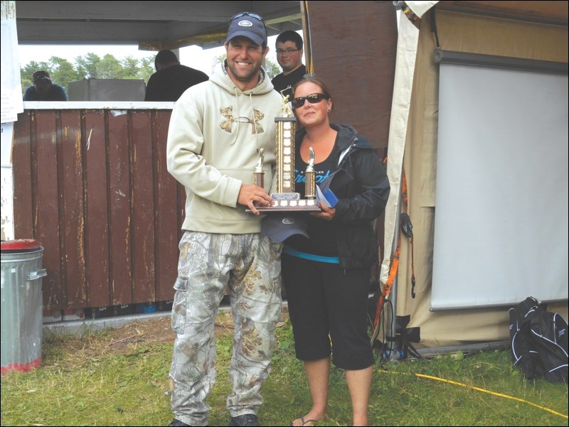
<path fill-rule="evenodd" d="M 302 63 L 302 37 L 296 31 L 283 31 L 277 37 L 277 62 L 282 72 L 272 80 L 277 92 L 289 95 L 292 99 L 292 87 L 307 73 L 307 67 Z M 289 89 L 287 89 L 289 88 Z"/>

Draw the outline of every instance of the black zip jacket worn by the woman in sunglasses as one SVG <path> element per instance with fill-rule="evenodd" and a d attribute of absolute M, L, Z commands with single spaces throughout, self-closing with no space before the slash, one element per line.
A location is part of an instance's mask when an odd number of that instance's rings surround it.
<path fill-rule="evenodd" d="M 338 256 L 344 269 L 373 266 L 378 262 L 375 220 L 387 203 L 389 180 L 376 149 L 366 137 L 347 124 L 331 124 L 338 131 L 338 170 L 329 179 L 339 202 L 332 224 L 336 225 Z M 302 141 L 306 129 L 299 129 Z"/>

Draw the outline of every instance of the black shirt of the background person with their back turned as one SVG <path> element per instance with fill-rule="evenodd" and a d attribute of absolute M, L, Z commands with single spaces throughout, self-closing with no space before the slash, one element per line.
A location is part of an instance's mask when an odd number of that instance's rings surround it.
<path fill-rule="evenodd" d="M 172 65 L 148 79 L 144 101 L 177 101 L 188 87 L 209 80 L 208 75 L 186 65 Z"/>

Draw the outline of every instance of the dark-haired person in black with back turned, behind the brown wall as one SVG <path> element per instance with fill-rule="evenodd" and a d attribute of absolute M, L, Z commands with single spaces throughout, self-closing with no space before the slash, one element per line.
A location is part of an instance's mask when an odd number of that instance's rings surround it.
<path fill-rule="evenodd" d="M 171 50 L 160 50 L 154 58 L 156 72 L 150 76 L 144 101 L 177 101 L 188 87 L 208 80 L 208 75 L 181 65 Z"/>

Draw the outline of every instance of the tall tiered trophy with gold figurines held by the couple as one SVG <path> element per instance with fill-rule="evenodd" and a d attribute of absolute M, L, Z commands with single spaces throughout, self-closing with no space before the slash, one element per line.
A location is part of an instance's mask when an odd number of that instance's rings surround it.
<path fill-rule="evenodd" d="M 282 94 L 282 93 L 281 93 Z M 314 148 L 309 148 L 310 159 L 305 173 L 306 190 L 305 198 L 300 198 L 300 193 L 294 192 L 294 134 L 297 122 L 289 106 L 289 96 L 282 95 L 281 116 L 275 117 L 277 124 L 277 193 L 272 193 L 275 200 L 272 206 L 257 206 L 260 212 L 282 211 L 317 211 L 321 209 L 316 198 L 316 181 L 314 176 Z M 253 172 L 253 179 L 257 183 L 259 177 L 262 180 L 262 151 L 259 153 L 259 162 Z M 259 166 L 260 165 L 260 166 Z M 262 181 L 260 181 L 262 183 Z M 257 184 L 259 185 L 259 184 Z M 262 185 L 260 185 L 262 186 Z"/>

